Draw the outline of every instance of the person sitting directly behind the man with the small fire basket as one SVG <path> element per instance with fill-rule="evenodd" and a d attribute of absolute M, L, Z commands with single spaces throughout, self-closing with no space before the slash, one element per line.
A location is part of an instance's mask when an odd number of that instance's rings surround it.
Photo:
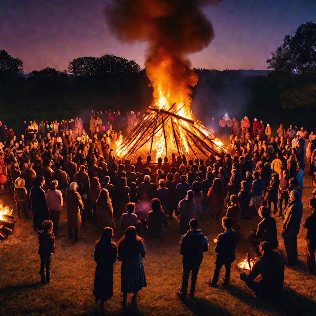
<path fill-rule="evenodd" d="M 271 211 L 266 206 L 261 206 L 258 210 L 259 216 L 263 220 L 258 224 L 257 231 L 252 230 L 248 236 L 248 240 L 252 245 L 254 252 L 260 257 L 259 244 L 262 241 L 268 241 L 272 249 L 279 246 L 277 240 L 276 220 L 270 216 Z"/>

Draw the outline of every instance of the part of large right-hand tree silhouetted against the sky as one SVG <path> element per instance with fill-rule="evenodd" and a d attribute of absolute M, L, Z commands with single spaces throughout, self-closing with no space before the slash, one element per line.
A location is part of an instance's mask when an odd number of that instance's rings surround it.
<path fill-rule="evenodd" d="M 316 24 L 306 22 L 295 32 L 286 35 L 283 44 L 267 59 L 268 69 L 284 72 L 316 71 Z"/>

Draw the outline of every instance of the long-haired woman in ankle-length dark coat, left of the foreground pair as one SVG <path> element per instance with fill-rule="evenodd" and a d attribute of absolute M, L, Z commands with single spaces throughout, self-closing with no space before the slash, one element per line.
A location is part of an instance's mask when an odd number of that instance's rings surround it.
<path fill-rule="evenodd" d="M 104 305 L 113 296 L 113 265 L 117 258 L 117 246 L 112 241 L 113 229 L 103 229 L 99 240 L 95 242 L 93 258 L 97 266 L 94 275 L 93 295 L 95 302 Z"/>

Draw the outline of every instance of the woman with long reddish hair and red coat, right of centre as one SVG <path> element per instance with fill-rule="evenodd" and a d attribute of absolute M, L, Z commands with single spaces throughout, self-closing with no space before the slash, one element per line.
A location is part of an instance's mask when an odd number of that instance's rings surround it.
<path fill-rule="evenodd" d="M 218 218 L 222 213 L 224 202 L 224 190 L 221 179 L 215 178 L 213 180 L 213 184 L 207 193 L 207 199 L 209 201 L 209 213 L 212 219 L 216 218 L 217 222 L 219 222 Z"/>

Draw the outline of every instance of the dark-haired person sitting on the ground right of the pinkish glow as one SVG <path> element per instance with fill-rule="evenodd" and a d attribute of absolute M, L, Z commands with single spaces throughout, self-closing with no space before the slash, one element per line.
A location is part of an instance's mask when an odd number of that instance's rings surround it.
<path fill-rule="evenodd" d="M 167 217 L 162 210 L 161 203 L 157 198 L 151 200 L 151 210 L 146 219 L 147 231 L 149 234 L 161 235 L 167 224 Z"/>

